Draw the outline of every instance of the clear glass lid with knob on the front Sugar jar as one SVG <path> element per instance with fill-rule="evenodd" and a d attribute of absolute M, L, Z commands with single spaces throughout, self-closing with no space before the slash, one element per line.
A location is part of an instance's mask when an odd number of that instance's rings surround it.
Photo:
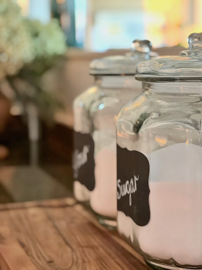
<path fill-rule="evenodd" d="M 189 48 L 179 56 L 142 62 L 135 78 L 140 81 L 202 81 L 202 33 L 188 37 Z"/>

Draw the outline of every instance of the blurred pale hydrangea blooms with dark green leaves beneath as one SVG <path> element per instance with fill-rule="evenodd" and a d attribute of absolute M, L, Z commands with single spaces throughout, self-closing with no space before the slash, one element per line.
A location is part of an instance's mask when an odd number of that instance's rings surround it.
<path fill-rule="evenodd" d="M 15 0 L 0 0 L 0 29 L 0 79 L 7 79 L 23 104 L 34 103 L 42 117 L 50 118 L 61 104 L 41 80 L 67 50 L 58 21 L 30 20 Z"/>

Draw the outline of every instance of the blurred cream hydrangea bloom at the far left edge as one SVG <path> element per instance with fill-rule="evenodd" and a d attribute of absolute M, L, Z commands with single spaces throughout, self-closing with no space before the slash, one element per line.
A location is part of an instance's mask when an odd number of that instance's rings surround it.
<path fill-rule="evenodd" d="M 20 8 L 13 0 L 0 1 L 0 78 L 15 74 L 24 63 L 34 60 L 30 33 Z"/>

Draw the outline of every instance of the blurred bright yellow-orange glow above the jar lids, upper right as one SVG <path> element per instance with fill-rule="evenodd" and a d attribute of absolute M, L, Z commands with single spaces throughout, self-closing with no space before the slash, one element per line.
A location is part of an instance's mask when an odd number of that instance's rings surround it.
<path fill-rule="evenodd" d="M 152 40 L 154 47 L 182 43 L 184 37 L 181 39 L 181 28 L 187 25 L 188 0 L 143 0 L 143 7 L 145 36 Z"/>

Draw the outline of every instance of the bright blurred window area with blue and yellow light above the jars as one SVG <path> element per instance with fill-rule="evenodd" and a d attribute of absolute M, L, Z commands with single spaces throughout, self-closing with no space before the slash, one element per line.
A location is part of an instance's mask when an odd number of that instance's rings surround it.
<path fill-rule="evenodd" d="M 58 18 L 67 44 L 90 51 L 128 48 L 149 39 L 154 47 L 187 46 L 201 31 L 200 0 L 17 0 L 24 16 L 47 23 Z M 104 39 L 103 35 L 104 34 Z"/>

